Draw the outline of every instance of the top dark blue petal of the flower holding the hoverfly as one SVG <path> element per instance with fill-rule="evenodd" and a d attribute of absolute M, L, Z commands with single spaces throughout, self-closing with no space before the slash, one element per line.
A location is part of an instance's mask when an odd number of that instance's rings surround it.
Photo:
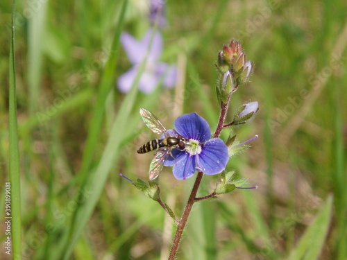
<path fill-rule="evenodd" d="M 186 139 L 198 140 L 201 143 L 208 141 L 211 137 L 210 125 L 201 116 L 194 113 L 183 114 L 174 123 L 178 134 Z"/>

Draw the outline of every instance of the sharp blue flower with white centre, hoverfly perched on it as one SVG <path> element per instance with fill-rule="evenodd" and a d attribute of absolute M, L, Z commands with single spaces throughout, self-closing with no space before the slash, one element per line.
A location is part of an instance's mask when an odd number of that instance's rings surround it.
<path fill-rule="evenodd" d="M 207 175 L 221 173 L 226 168 L 229 160 L 228 148 L 223 140 L 211 137 L 210 125 L 198 114 L 183 114 L 176 119 L 175 131 L 189 144 L 184 150 L 175 148 L 171 151 L 173 157 L 169 157 L 164 166 L 174 166 L 173 172 L 178 180 L 192 177 L 195 171 L 201 171 Z"/>

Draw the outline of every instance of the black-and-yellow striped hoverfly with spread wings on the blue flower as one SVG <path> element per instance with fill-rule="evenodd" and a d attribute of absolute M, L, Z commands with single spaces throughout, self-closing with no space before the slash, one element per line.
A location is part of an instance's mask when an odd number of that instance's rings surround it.
<path fill-rule="evenodd" d="M 137 153 L 149 153 L 151 150 L 158 150 L 149 166 L 149 180 L 154 180 L 162 171 L 164 162 L 170 155 L 172 156 L 171 150 L 175 148 L 184 150 L 187 140 L 178 134 L 170 135 L 164 128 L 164 125 L 149 110 L 141 108 L 139 114 L 149 129 L 155 132 L 155 134 L 164 135 L 165 137 L 164 139 L 149 141 L 137 150 Z"/>

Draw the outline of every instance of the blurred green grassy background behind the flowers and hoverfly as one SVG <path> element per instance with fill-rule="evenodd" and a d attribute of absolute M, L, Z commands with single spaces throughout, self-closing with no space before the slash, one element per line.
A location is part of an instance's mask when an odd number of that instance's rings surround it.
<path fill-rule="evenodd" d="M 260 111 L 235 130 L 239 140 L 259 138 L 228 170 L 258 189 L 196 203 L 178 259 L 347 259 L 347 3 L 167 1 L 160 60 L 177 64 L 181 78 L 175 89 L 149 95 L 117 89 L 131 66 L 119 33 L 141 39 L 151 26 L 148 1 L 123 4 L 17 2 L 22 259 L 167 259 L 173 221 L 119 172 L 148 180 L 153 155 L 136 151 L 158 137 L 139 107 L 167 128 L 180 114 L 198 112 L 214 130 L 214 62 L 232 38 L 255 70 L 233 95 L 228 119 L 248 101 L 258 101 Z M 0 12 L 4 212 L 12 2 L 1 1 Z M 211 193 L 217 179 L 205 176 L 198 194 Z M 178 216 L 193 182 L 176 180 L 171 168 L 160 175 L 162 200 Z M 12 259 L 2 246 L 0 254 Z"/>

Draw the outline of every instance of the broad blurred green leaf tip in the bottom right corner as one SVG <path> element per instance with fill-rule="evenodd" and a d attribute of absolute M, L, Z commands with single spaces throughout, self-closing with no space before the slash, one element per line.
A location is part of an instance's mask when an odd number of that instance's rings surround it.
<path fill-rule="evenodd" d="M 288 260 L 318 259 L 323 248 L 325 237 L 331 220 L 332 196 L 329 196 L 316 219 L 308 227 L 296 248 L 291 252 Z"/>

